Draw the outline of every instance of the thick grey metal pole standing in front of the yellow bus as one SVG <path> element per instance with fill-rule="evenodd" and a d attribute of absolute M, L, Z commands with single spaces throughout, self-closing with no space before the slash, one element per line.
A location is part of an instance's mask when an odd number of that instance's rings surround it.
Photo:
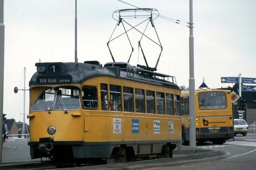
<path fill-rule="evenodd" d="M 195 148 L 195 78 L 194 78 L 194 37 L 193 0 L 189 0 L 189 145 Z"/>

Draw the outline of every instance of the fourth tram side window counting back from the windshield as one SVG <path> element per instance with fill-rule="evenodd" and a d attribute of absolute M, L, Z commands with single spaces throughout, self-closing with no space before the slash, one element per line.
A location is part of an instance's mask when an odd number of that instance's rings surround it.
<path fill-rule="evenodd" d="M 133 112 L 134 102 L 133 102 L 133 88 L 123 87 L 124 96 L 124 111 Z"/>

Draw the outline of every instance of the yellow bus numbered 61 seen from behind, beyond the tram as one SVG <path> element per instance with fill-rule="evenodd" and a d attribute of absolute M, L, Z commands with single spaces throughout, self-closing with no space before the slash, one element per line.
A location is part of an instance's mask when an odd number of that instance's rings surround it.
<path fill-rule="evenodd" d="M 189 90 L 181 91 L 182 144 L 189 144 Z M 234 137 L 231 93 L 227 90 L 195 90 L 196 141 L 223 144 Z"/>

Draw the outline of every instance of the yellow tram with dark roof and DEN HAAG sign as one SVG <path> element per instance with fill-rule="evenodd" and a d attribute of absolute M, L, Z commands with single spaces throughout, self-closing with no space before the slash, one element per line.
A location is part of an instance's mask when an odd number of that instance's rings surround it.
<path fill-rule="evenodd" d="M 126 62 L 36 63 L 29 82 L 31 159 L 125 162 L 181 147 L 173 76 Z"/>

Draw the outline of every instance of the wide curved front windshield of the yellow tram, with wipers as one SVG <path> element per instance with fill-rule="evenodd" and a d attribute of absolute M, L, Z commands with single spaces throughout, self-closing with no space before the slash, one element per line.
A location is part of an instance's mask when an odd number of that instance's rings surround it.
<path fill-rule="evenodd" d="M 77 110 L 81 107 L 80 90 L 74 86 L 48 88 L 33 103 L 32 111 Z"/>

